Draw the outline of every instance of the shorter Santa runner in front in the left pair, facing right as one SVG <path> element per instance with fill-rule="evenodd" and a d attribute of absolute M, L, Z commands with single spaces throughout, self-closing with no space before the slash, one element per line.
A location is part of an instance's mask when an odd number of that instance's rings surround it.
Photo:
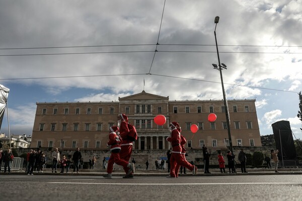
<path fill-rule="evenodd" d="M 126 160 L 120 158 L 120 151 L 121 151 L 121 143 L 123 142 L 122 138 L 119 136 L 119 129 L 117 126 L 110 127 L 110 133 L 108 137 L 107 146 L 110 146 L 111 156 L 108 161 L 107 166 L 107 175 L 105 178 L 112 177 L 112 170 L 113 170 L 113 163 L 117 165 L 123 166 L 123 168 L 129 168 L 131 171 L 128 172 L 128 175 L 134 171 L 134 167 L 131 163 Z"/>

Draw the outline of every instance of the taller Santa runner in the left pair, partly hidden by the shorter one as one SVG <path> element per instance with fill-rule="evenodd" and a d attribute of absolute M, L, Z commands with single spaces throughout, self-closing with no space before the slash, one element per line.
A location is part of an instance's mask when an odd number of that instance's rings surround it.
<path fill-rule="evenodd" d="M 117 116 L 117 126 L 119 128 L 120 137 L 122 138 L 120 158 L 124 159 L 125 161 L 129 161 L 132 154 L 132 141 L 128 140 L 127 138 L 129 134 L 129 128 L 128 128 L 128 117 L 125 114 L 119 114 Z M 111 161 L 112 164 L 109 164 L 109 162 L 110 161 L 108 161 L 108 165 L 113 166 L 113 162 Z M 134 168 L 133 163 L 132 166 Z M 132 171 L 129 167 L 125 167 L 124 171 L 126 175 L 123 176 L 123 178 L 133 178 L 134 171 Z"/>

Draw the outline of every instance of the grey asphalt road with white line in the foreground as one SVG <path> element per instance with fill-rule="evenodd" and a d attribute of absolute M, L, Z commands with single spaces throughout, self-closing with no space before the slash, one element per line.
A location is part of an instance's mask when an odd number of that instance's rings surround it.
<path fill-rule="evenodd" d="M 0 200 L 302 200 L 302 175 L 0 175 Z"/>

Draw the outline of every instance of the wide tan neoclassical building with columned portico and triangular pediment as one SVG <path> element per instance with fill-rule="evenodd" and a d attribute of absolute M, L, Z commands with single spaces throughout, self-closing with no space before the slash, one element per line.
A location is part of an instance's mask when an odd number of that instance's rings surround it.
<path fill-rule="evenodd" d="M 233 146 L 261 146 L 255 99 L 228 100 Z M 109 127 L 117 125 L 119 113 L 126 114 L 137 129 L 133 144 L 138 150 L 169 149 L 169 123 L 178 122 L 186 147 L 223 149 L 229 146 L 228 129 L 223 100 L 169 100 L 169 96 L 141 93 L 119 97 L 118 102 L 54 102 L 37 103 L 31 148 L 58 147 L 60 149 L 105 150 Z M 208 115 L 217 116 L 215 122 Z M 158 126 L 157 115 L 167 122 Z M 191 125 L 198 131 L 192 133 Z"/>

